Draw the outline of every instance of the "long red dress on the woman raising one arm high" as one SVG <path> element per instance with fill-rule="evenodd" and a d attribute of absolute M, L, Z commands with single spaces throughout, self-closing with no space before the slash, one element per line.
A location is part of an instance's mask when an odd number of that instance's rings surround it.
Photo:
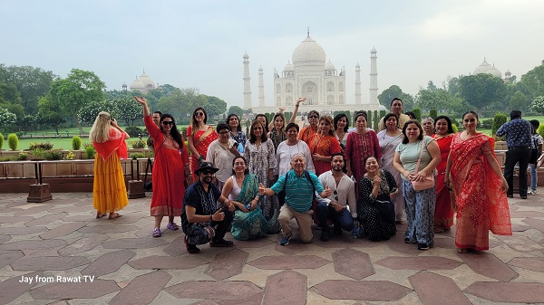
<path fill-rule="evenodd" d="M 183 137 L 183 147 L 180 148 L 172 138 L 165 138 L 151 116 L 145 117 L 143 121 L 155 148 L 151 216 L 180 216 L 185 195 L 185 166 L 189 164 L 189 153 Z"/>

